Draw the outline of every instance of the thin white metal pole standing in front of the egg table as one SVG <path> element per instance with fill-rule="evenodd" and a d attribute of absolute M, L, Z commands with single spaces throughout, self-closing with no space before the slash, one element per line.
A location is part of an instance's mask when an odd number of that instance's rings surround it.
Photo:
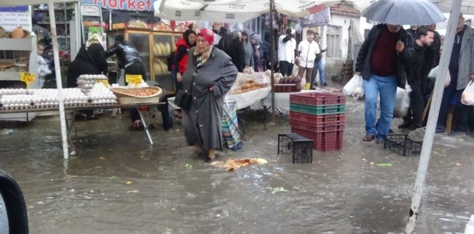
<path fill-rule="evenodd" d="M 48 10 L 49 10 L 49 23 L 51 24 L 52 53 L 54 54 L 54 59 L 55 59 L 56 86 L 58 89 L 58 102 L 59 102 L 59 119 L 61 122 L 61 138 L 63 141 L 63 157 L 64 159 L 68 159 L 69 152 L 67 149 L 67 128 L 66 128 L 66 114 L 64 113 L 63 82 L 61 80 L 61 65 L 59 64 L 58 35 L 56 32 L 55 6 L 52 4 L 52 0 L 48 0 Z"/>

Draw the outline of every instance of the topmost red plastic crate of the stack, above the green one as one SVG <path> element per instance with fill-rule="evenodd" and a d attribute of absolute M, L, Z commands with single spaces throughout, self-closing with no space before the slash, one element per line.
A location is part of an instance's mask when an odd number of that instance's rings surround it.
<path fill-rule="evenodd" d="M 330 93 L 296 93 L 289 95 L 289 102 L 308 106 L 337 105 L 345 104 L 346 97 Z"/>

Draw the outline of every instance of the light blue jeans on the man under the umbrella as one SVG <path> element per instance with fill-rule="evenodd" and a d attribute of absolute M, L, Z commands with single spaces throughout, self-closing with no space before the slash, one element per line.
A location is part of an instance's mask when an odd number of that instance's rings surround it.
<path fill-rule="evenodd" d="M 364 79 L 365 133 L 385 140 L 393 118 L 393 108 L 397 97 L 397 77 L 372 75 Z M 380 93 L 380 118 L 377 118 L 377 97 Z"/>

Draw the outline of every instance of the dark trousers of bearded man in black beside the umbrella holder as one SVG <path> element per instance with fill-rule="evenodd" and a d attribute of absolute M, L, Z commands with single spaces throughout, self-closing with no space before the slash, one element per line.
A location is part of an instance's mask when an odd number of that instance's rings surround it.
<path fill-rule="evenodd" d="M 423 96 L 422 86 L 418 81 L 408 81 L 411 86 L 410 93 L 410 110 L 408 115 L 403 117 L 404 123 L 411 123 L 413 127 L 423 127 L 423 111 L 425 110 L 425 99 Z M 411 119 L 413 118 L 413 119 Z"/>

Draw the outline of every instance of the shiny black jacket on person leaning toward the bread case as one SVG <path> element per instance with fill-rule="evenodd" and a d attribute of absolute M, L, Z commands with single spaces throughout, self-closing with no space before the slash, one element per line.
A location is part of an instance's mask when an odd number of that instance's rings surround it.
<path fill-rule="evenodd" d="M 130 63 L 141 63 L 142 59 L 138 54 L 138 50 L 128 43 L 128 41 L 115 42 L 115 45 L 107 50 L 106 56 L 111 57 L 116 54 L 119 68 L 124 68 Z"/>

